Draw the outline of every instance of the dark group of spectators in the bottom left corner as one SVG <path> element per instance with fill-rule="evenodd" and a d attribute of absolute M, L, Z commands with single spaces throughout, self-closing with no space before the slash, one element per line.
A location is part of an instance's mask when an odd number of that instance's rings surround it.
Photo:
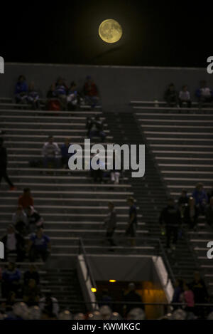
<path fill-rule="evenodd" d="M 0 320 L 37 320 L 42 313 L 44 317 L 53 314 L 58 317 L 58 301 L 51 293 L 42 293 L 40 274 L 33 264 L 22 273 L 15 262 L 9 262 L 0 272 L 0 283 L 1 297 L 4 299 L 0 304 Z M 22 302 L 17 302 L 18 299 Z M 39 317 L 36 310 L 39 310 Z"/>

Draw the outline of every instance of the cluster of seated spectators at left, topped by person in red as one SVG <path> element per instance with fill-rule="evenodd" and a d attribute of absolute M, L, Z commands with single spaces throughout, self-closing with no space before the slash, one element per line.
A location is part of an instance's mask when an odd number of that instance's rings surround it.
<path fill-rule="evenodd" d="M 18 207 L 13 213 L 11 224 L 1 241 L 4 244 L 4 261 L 11 257 L 22 262 L 47 261 L 51 251 L 50 238 L 44 233 L 43 217 L 35 210 L 31 189 L 23 189 Z"/>

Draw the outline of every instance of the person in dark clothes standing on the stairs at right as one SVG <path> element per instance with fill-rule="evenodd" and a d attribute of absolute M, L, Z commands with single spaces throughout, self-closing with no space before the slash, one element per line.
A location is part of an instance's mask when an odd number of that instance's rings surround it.
<path fill-rule="evenodd" d="M 175 207 L 175 201 L 173 198 L 168 199 L 168 205 L 160 213 L 159 223 L 161 226 L 165 226 L 166 232 L 166 248 L 170 252 L 175 251 L 178 241 L 178 231 L 181 224 L 180 209 Z M 170 241 L 173 238 L 172 249 L 170 249 Z"/>

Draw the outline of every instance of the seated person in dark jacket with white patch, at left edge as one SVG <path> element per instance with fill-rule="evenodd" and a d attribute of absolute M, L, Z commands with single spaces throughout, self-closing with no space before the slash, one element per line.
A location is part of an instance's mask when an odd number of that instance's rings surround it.
<path fill-rule="evenodd" d="M 6 235 L 1 241 L 4 244 L 4 261 L 7 261 L 9 256 L 15 254 L 16 261 L 21 262 L 25 258 L 25 240 L 23 236 L 16 231 L 12 224 L 9 225 Z"/>

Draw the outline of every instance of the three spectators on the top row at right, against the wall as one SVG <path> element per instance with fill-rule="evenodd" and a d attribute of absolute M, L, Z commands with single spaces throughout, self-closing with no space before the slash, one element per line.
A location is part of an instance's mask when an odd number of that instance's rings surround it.
<path fill-rule="evenodd" d="M 195 96 L 200 108 L 204 104 L 213 102 L 213 90 L 207 86 L 205 80 L 200 82 L 200 88 L 196 90 Z M 169 107 L 191 108 L 192 105 L 192 98 L 187 85 L 183 85 L 178 93 L 174 83 L 170 83 L 167 90 L 165 90 L 164 100 Z"/>

